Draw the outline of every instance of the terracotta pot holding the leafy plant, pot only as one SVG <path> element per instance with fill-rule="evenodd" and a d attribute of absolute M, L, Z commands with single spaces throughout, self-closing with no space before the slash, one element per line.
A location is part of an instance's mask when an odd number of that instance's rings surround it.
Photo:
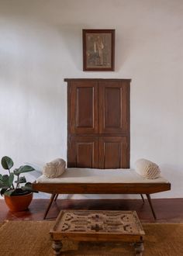
<path fill-rule="evenodd" d="M 11 212 L 20 212 L 28 208 L 33 199 L 33 193 L 27 195 L 5 195 L 5 203 Z"/>

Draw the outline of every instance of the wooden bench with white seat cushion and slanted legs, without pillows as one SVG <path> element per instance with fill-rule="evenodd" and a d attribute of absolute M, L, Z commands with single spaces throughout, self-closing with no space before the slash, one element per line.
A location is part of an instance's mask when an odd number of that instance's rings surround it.
<path fill-rule="evenodd" d="M 44 219 L 58 194 L 140 194 L 142 199 L 145 194 L 156 219 L 150 194 L 170 190 L 171 183 L 163 177 L 148 180 L 133 169 L 67 168 L 60 178 L 40 176 L 33 183 L 33 189 L 51 194 Z"/>

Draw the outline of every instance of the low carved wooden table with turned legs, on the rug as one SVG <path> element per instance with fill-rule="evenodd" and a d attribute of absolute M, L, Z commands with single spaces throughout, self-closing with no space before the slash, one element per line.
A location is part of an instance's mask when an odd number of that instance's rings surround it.
<path fill-rule="evenodd" d="M 63 240 L 78 240 L 133 242 L 140 256 L 144 235 L 135 211 L 63 210 L 50 230 L 55 255 L 61 254 Z"/>

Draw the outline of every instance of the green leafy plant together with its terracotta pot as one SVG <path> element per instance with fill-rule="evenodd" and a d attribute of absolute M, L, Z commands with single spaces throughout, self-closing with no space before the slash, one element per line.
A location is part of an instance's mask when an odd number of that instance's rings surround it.
<path fill-rule="evenodd" d="M 31 183 L 26 182 L 25 176 L 20 176 L 24 172 L 34 171 L 35 169 L 29 165 L 22 165 L 19 168 L 10 171 L 14 163 L 10 157 L 2 157 L 2 167 L 9 171 L 8 175 L 0 174 L 1 195 L 4 196 L 10 211 L 22 211 L 28 208 L 33 199 L 33 191 Z M 20 185 L 26 183 L 24 186 Z"/>

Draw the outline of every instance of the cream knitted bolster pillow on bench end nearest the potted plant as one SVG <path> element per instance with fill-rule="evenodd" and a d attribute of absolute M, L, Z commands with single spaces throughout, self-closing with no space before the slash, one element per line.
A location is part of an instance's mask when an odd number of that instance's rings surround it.
<path fill-rule="evenodd" d="M 47 178 L 60 177 L 65 171 L 65 161 L 61 158 L 57 158 L 50 163 L 43 166 L 43 175 Z"/>

